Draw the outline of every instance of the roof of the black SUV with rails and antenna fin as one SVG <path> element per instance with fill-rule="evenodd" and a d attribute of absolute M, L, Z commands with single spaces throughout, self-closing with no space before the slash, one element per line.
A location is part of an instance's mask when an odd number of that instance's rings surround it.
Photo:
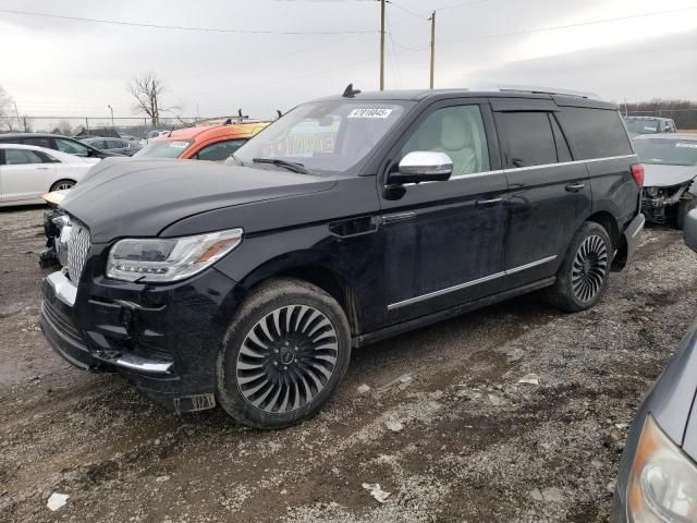
<path fill-rule="evenodd" d="M 528 98 L 538 100 L 554 100 L 560 106 L 579 106 L 596 107 L 603 109 L 616 109 L 616 105 L 599 100 L 595 95 L 574 93 L 559 89 L 540 88 L 491 88 L 473 90 L 468 88 L 461 89 L 418 89 L 418 90 L 378 90 L 359 93 L 352 98 L 343 97 L 341 94 L 318 98 L 314 101 L 329 100 L 412 100 L 423 101 L 427 99 L 447 99 L 447 98 Z"/>

